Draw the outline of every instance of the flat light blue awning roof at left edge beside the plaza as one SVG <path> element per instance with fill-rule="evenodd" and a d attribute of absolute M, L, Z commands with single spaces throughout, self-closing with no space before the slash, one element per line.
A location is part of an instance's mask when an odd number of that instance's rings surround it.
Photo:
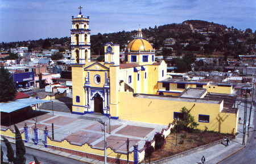
<path fill-rule="evenodd" d="M 51 102 L 49 100 L 40 100 L 36 98 L 23 98 L 11 102 L 1 102 L 0 111 L 5 113 L 11 113 L 15 110 L 22 109 L 27 106 L 35 105 L 38 103 Z"/>

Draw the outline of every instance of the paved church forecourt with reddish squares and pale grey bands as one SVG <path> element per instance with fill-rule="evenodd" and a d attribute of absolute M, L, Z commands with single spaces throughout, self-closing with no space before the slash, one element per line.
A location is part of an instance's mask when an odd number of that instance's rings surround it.
<path fill-rule="evenodd" d="M 48 111 L 49 112 L 49 111 Z M 104 149 L 104 126 L 100 122 L 106 123 L 107 146 L 120 153 L 126 153 L 126 141 L 129 139 L 129 150 L 133 150 L 133 145 L 138 144 L 142 149 L 145 142 L 153 140 L 156 132 L 161 132 L 165 125 L 130 122 L 126 120 L 110 119 L 99 114 L 76 115 L 54 111 L 37 118 L 23 120 L 17 123 L 19 130 L 23 132 L 24 124 L 27 123 L 28 132 L 33 136 L 32 128 L 39 128 L 39 139 L 43 139 L 43 131 L 47 127 L 49 137 L 52 137 L 52 123 L 54 139 L 57 141 L 68 140 L 72 144 L 89 144 L 93 148 Z M 1 129 L 7 127 L 1 126 Z M 10 126 L 14 130 L 13 126 Z"/>

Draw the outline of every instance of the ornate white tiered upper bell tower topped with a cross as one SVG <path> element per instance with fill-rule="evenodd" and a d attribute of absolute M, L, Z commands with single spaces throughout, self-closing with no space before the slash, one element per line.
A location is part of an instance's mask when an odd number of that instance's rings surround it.
<path fill-rule="evenodd" d="M 90 29 L 89 16 L 82 15 L 81 9 L 76 18 L 72 16 L 71 59 L 72 63 L 85 64 L 90 62 Z"/>

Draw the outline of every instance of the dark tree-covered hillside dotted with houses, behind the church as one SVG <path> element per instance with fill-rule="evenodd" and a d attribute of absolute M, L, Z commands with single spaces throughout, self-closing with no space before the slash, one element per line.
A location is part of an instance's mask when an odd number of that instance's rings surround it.
<path fill-rule="evenodd" d="M 119 44 L 123 49 L 128 41 L 133 40 L 136 32 L 122 31 L 94 34 L 90 37 L 91 52 L 92 54 L 104 54 L 103 45 L 110 41 Z M 156 50 L 168 48 L 165 46 L 166 38 L 174 38 L 175 44 L 170 46 L 169 49 L 174 50 L 177 55 L 183 54 L 185 51 L 205 55 L 220 51 L 220 54 L 236 57 L 238 54 L 250 54 L 254 50 L 252 45 L 256 42 L 255 32 L 253 33 L 249 28 L 246 31 L 240 31 L 233 27 L 227 28 L 226 25 L 203 20 L 185 20 L 179 24 L 172 23 L 159 27 L 155 26 L 154 28 L 148 27 L 143 28 L 142 32 L 143 36 L 151 42 Z M 0 48 L 10 49 L 15 46 L 28 46 L 30 50 L 34 50 L 52 48 L 54 45 L 68 49 L 70 37 L 2 43 Z M 167 54 L 170 54 L 170 51 Z"/>

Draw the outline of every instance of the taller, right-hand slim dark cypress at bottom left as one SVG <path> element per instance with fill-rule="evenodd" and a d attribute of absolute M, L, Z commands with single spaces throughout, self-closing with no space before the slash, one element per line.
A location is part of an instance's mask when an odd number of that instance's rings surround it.
<path fill-rule="evenodd" d="M 22 140 L 22 136 L 20 135 L 18 127 L 14 124 L 15 128 L 15 145 L 16 145 L 16 161 L 18 163 L 26 163 L 26 149 Z"/>

